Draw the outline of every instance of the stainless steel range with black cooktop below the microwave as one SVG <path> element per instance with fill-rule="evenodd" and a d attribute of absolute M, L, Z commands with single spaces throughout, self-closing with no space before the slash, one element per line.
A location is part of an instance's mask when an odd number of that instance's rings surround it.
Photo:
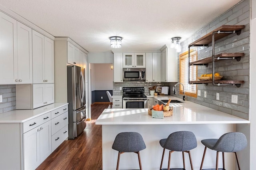
<path fill-rule="evenodd" d="M 147 108 L 144 87 L 123 87 L 123 109 Z"/>

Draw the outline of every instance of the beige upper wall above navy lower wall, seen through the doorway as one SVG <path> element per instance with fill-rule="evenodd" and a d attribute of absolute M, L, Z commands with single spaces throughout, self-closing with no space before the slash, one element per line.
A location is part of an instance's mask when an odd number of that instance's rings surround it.
<path fill-rule="evenodd" d="M 94 64 L 94 86 L 95 90 L 113 90 L 113 64 Z"/>

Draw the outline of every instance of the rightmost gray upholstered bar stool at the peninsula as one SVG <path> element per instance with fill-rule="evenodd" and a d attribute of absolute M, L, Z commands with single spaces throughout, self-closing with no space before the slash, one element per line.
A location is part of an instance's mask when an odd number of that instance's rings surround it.
<path fill-rule="evenodd" d="M 222 170 L 225 170 L 224 152 L 235 153 L 238 169 L 240 170 L 240 164 L 239 164 L 238 156 L 236 152 L 243 150 L 247 146 L 247 139 L 243 133 L 228 132 L 220 136 L 219 139 L 204 139 L 204 140 L 201 140 L 201 142 L 205 146 L 205 148 L 204 148 L 204 155 L 202 158 L 200 170 L 202 170 L 202 167 L 203 167 L 206 148 L 210 148 L 211 150 L 217 151 L 216 170 L 218 170 L 219 152 L 222 152 L 222 164 L 223 164 Z M 214 169 L 211 169 L 211 170 L 214 170 Z"/>

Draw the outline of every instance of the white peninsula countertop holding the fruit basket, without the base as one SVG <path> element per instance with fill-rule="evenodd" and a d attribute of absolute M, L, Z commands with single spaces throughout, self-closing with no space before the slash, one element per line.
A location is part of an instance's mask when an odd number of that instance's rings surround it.
<path fill-rule="evenodd" d="M 173 96 L 154 96 L 155 99 L 182 99 Z M 164 119 L 152 118 L 148 109 L 105 109 L 96 120 L 96 125 L 157 125 L 157 124 L 239 124 L 250 123 L 236 117 L 190 101 L 170 103 L 173 115 Z"/>

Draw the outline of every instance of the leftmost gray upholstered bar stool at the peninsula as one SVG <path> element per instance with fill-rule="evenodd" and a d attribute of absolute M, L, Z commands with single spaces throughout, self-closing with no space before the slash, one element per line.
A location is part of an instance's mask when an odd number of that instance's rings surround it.
<path fill-rule="evenodd" d="M 120 154 L 124 152 L 134 152 L 138 154 L 140 170 L 142 170 L 141 161 L 140 161 L 140 150 L 146 148 L 142 136 L 138 132 L 121 132 L 116 135 L 112 149 L 118 151 L 118 159 L 116 170 L 119 167 Z"/>

